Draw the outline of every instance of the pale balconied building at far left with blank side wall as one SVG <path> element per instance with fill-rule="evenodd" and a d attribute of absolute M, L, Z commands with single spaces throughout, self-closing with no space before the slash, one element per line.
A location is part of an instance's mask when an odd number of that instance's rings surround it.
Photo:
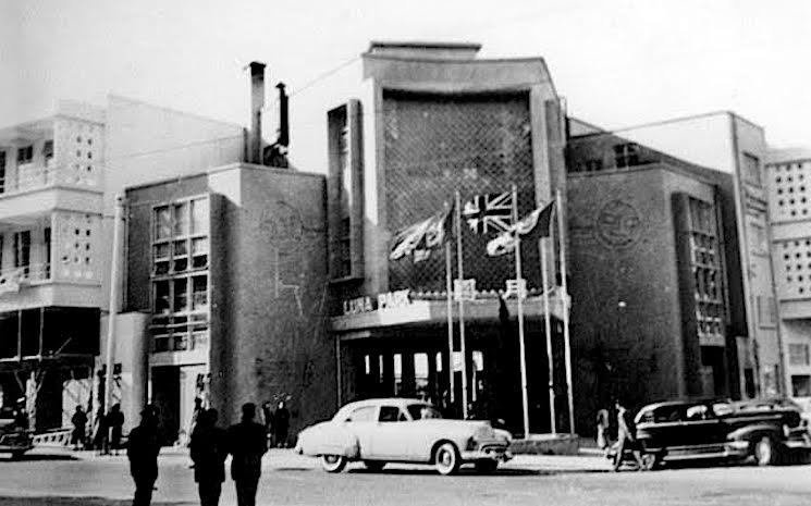
<path fill-rule="evenodd" d="M 67 425 L 76 405 L 98 406 L 103 383 L 94 385 L 94 378 L 105 375 L 99 337 L 109 311 L 115 194 L 243 157 L 239 125 L 122 97 L 103 109 L 63 102 L 51 118 L 0 131 L 5 405 L 26 397 L 38 430 Z M 132 377 L 142 356 L 126 340 L 116 348 L 112 390 L 128 425 L 146 398 Z"/>

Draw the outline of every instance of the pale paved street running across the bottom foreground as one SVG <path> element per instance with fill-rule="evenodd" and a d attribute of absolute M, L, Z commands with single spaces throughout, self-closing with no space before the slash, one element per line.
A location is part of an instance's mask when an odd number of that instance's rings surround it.
<path fill-rule="evenodd" d="M 153 504 L 192 505 L 195 484 L 183 454 L 162 455 Z M 809 504 L 811 466 L 683 468 L 654 472 L 609 471 L 592 456 L 519 456 L 495 476 L 463 469 L 440 477 L 429 468 L 392 466 L 371 473 L 363 466 L 341 474 L 315 460 L 272 451 L 265 462 L 258 504 L 284 505 L 736 505 Z M 125 505 L 132 484 L 125 457 L 79 458 L 37 451 L 23 461 L 0 461 L 0 506 Z M 225 482 L 223 505 L 236 503 Z"/>

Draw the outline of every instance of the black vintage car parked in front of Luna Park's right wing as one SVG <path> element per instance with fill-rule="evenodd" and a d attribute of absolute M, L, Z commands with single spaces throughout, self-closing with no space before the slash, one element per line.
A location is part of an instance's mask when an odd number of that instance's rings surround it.
<path fill-rule="evenodd" d="M 790 451 L 808 451 L 811 439 L 790 400 L 677 400 L 651 404 L 636 417 L 649 467 L 698 458 L 754 457 L 778 464 Z"/>

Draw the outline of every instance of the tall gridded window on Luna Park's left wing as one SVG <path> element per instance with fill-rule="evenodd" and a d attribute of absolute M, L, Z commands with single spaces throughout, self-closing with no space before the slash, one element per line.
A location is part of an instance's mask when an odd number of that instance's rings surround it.
<path fill-rule="evenodd" d="M 152 211 L 152 336 L 156 351 L 208 343 L 208 197 Z"/>

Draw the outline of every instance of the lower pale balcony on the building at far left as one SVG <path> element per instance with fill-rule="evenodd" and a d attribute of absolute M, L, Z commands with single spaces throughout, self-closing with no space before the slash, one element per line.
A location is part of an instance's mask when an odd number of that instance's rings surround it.
<path fill-rule="evenodd" d="M 98 282 L 61 280 L 51 264 L 30 263 L 0 271 L 0 312 L 36 307 L 98 307 Z"/>

